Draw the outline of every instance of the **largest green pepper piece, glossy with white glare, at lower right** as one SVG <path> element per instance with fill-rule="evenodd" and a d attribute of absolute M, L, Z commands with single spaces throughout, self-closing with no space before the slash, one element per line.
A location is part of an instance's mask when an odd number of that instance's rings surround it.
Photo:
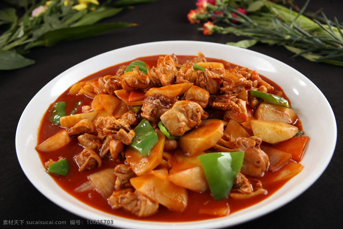
<path fill-rule="evenodd" d="M 227 198 L 242 167 L 243 158 L 243 151 L 206 153 L 198 157 L 216 201 Z"/>

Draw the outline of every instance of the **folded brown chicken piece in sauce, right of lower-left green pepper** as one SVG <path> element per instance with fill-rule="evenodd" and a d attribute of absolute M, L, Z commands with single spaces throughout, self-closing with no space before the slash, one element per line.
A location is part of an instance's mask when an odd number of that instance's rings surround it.
<path fill-rule="evenodd" d="M 83 151 L 75 156 L 75 162 L 79 166 L 79 171 L 85 169 L 92 169 L 98 164 L 98 167 L 101 166 L 102 161 L 98 154 L 91 148 L 84 148 Z"/>

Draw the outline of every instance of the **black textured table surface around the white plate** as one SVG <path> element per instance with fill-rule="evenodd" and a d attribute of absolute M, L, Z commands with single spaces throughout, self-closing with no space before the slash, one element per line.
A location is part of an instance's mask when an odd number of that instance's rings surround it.
<path fill-rule="evenodd" d="M 0 71 L 0 225 L 3 225 L 5 220 L 55 220 L 66 221 L 67 225 L 63 228 L 81 228 L 69 222 L 85 222 L 84 218 L 52 203 L 23 173 L 17 160 L 14 140 L 22 112 L 33 96 L 51 79 L 79 62 L 109 50 L 153 41 L 193 40 L 225 44 L 244 39 L 234 35 L 203 35 L 197 30 L 201 24 L 191 25 L 186 17 L 190 9 L 196 8 L 195 2 L 160 0 L 137 5 L 134 10 L 124 11 L 102 22 L 134 22 L 139 23 L 139 26 L 65 42 L 50 48 L 37 47 L 26 55 L 36 60 L 35 65 L 18 70 Z M 302 6 L 305 0 L 296 2 Z M 6 4 L 0 2 L 0 9 L 5 6 Z M 321 7 L 329 19 L 337 16 L 339 21 L 343 21 L 343 1 L 312 0 L 308 10 L 315 12 Z M 335 114 L 338 138 L 328 168 L 307 191 L 285 206 L 233 228 L 343 228 L 343 68 L 310 62 L 301 57 L 289 59 L 293 54 L 279 46 L 256 45 L 250 49 L 286 63 L 317 85 Z M 24 225 L 4 225 L 2 228 L 17 227 Z M 103 226 L 85 223 L 82 225 L 82 228 L 100 227 Z"/>

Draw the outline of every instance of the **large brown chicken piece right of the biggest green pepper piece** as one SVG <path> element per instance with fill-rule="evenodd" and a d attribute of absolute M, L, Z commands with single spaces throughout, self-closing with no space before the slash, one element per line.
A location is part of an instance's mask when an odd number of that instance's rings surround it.
<path fill-rule="evenodd" d="M 222 142 L 223 143 L 223 142 Z M 236 138 L 226 142 L 226 146 L 232 149 L 238 148 L 244 151 L 243 165 L 240 172 L 248 176 L 263 176 L 269 166 L 268 155 L 260 149 L 261 138 L 252 136 L 249 138 Z"/>

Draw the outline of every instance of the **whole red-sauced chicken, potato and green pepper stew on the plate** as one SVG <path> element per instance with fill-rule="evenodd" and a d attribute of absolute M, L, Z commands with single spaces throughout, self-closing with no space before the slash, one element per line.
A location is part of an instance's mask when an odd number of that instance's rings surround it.
<path fill-rule="evenodd" d="M 68 192 L 113 214 L 194 220 L 255 204 L 301 172 L 308 137 L 278 85 L 200 51 L 143 60 L 75 83 L 43 118 L 36 149 Z"/>

